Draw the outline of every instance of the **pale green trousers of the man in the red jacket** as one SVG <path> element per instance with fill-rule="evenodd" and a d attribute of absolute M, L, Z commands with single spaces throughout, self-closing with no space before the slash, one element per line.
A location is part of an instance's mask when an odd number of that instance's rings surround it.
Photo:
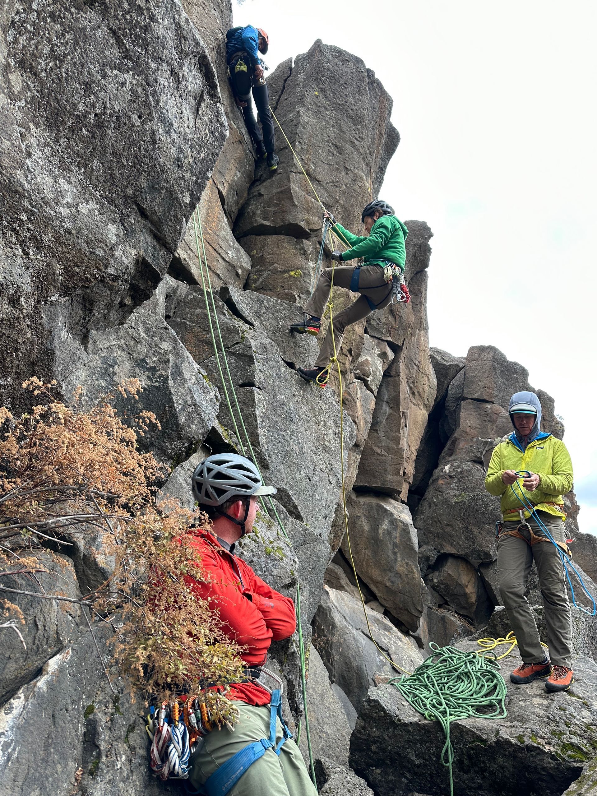
<path fill-rule="evenodd" d="M 189 760 L 189 782 L 198 789 L 205 780 L 232 755 L 248 743 L 270 736 L 270 706 L 235 701 L 240 719 L 234 732 L 227 727 L 213 730 L 193 752 Z M 282 738 L 282 724 L 277 719 L 276 741 Z M 229 796 L 317 796 L 317 790 L 306 770 L 305 761 L 293 739 L 283 743 L 280 754 L 267 749 L 236 782 Z"/>

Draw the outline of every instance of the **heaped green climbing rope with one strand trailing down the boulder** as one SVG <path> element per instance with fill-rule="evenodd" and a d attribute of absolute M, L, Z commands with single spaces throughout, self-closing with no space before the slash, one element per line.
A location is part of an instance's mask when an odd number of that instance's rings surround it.
<path fill-rule="evenodd" d="M 462 652 L 455 647 L 430 643 L 429 657 L 409 677 L 393 677 L 389 682 L 430 721 L 439 721 L 446 743 L 441 762 L 450 775 L 450 796 L 454 796 L 452 762 L 454 749 L 450 724 L 474 716 L 478 719 L 503 719 L 506 687 L 500 666 L 491 657 Z"/>

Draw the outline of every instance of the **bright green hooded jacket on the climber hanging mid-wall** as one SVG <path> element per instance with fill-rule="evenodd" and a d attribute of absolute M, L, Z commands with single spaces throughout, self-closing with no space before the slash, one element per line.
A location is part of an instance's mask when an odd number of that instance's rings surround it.
<path fill-rule="evenodd" d="M 400 265 L 404 271 L 404 260 L 406 259 L 406 248 L 404 241 L 408 235 L 408 229 L 396 216 L 382 216 L 378 218 L 369 236 L 353 235 L 348 229 L 340 224 L 332 227 L 341 243 L 349 244 L 346 252 L 342 252 L 342 260 L 362 257 L 365 265 L 375 265 L 389 260 L 390 263 Z"/>

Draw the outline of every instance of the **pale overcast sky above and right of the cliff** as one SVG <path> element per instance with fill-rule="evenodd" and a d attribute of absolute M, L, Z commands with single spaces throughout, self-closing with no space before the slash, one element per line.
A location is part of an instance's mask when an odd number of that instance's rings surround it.
<path fill-rule="evenodd" d="M 246 0 L 234 18 L 267 30 L 271 68 L 321 38 L 376 72 L 401 136 L 380 196 L 434 232 L 431 345 L 497 345 L 554 396 L 597 533 L 597 3 Z"/>

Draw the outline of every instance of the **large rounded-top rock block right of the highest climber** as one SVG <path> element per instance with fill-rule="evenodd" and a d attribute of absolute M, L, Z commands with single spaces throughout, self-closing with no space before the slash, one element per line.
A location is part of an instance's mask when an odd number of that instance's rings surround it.
<path fill-rule="evenodd" d="M 334 209 L 342 224 L 358 232 L 361 208 L 377 196 L 400 141 L 390 122 L 392 100 L 360 58 L 320 40 L 295 58 L 291 70 L 287 62 L 278 70 L 285 80 L 281 92 L 276 92 L 275 115 L 323 203 Z M 279 82 L 276 72 L 269 83 Z M 349 115 L 345 113 L 347 85 L 353 108 Z M 343 119 L 340 126 L 339 118 Z M 322 226 L 321 207 L 281 136 L 276 150 L 280 162 L 275 179 L 257 180 L 249 189 L 236 218 L 237 237 L 309 239 Z"/>

